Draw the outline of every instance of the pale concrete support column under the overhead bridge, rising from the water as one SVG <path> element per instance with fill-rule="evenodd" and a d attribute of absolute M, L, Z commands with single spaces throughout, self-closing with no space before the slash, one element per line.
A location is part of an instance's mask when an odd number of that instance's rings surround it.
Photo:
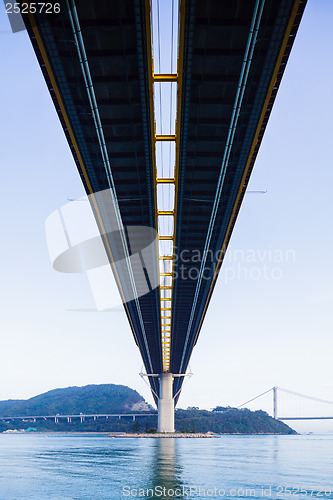
<path fill-rule="evenodd" d="M 173 375 L 161 373 L 158 400 L 158 432 L 175 432 L 175 402 L 173 399 Z"/>

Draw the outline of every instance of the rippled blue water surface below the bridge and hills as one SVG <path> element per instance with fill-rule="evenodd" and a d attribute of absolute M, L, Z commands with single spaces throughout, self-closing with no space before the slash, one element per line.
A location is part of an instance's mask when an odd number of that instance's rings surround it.
<path fill-rule="evenodd" d="M 1 500 L 333 499 L 333 436 L 0 435 Z"/>

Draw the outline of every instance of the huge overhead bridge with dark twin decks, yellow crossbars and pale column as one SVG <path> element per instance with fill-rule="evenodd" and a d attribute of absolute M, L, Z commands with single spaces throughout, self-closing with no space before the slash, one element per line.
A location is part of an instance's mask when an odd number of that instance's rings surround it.
<path fill-rule="evenodd" d="M 52 219 L 62 248 L 53 266 L 68 272 L 65 257 L 73 264 L 80 254 L 91 283 L 101 267 L 113 273 L 158 428 L 174 432 L 306 0 L 57 5 L 52 14 L 22 9 L 22 17 L 105 257 L 96 271 L 93 238 L 78 250 L 77 227 L 69 230 L 71 214 L 62 210 Z"/>

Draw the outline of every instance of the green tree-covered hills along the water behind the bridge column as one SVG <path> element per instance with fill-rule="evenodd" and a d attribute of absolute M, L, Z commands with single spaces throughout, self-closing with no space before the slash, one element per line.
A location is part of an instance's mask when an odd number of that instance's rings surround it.
<path fill-rule="evenodd" d="M 131 417 L 100 417 L 94 420 L 61 415 L 140 414 Z M 146 414 L 153 414 L 146 416 Z M 58 415 L 59 421 L 30 419 L 3 421 L 2 417 Z M 0 432 L 10 429 L 34 429 L 39 432 L 154 432 L 157 412 L 133 389 L 123 385 L 103 384 L 54 389 L 27 400 L 0 401 Z M 264 411 L 218 406 L 212 411 L 188 408 L 176 410 L 176 431 L 215 432 L 221 434 L 296 434 L 288 425 Z"/>

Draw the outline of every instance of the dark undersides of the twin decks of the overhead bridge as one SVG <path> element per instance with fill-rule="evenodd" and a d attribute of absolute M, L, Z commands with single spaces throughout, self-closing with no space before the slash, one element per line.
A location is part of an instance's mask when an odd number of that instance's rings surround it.
<path fill-rule="evenodd" d="M 150 3 L 60 3 L 57 16 L 24 20 L 85 190 L 111 189 L 124 226 L 157 230 Z M 173 374 L 188 367 L 305 3 L 181 2 Z M 110 227 L 103 208 L 101 229 Z M 120 240 L 105 244 L 110 262 L 124 256 Z M 158 259 L 156 248 L 157 280 Z M 130 270 L 118 285 L 131 286 Z M 159 287 L 124 307 L 147 373 L 162 373 Z M 149 381 L 157 398 L 158 378 Z M 176 399 L 182 382 L 174 381 Z"/>

